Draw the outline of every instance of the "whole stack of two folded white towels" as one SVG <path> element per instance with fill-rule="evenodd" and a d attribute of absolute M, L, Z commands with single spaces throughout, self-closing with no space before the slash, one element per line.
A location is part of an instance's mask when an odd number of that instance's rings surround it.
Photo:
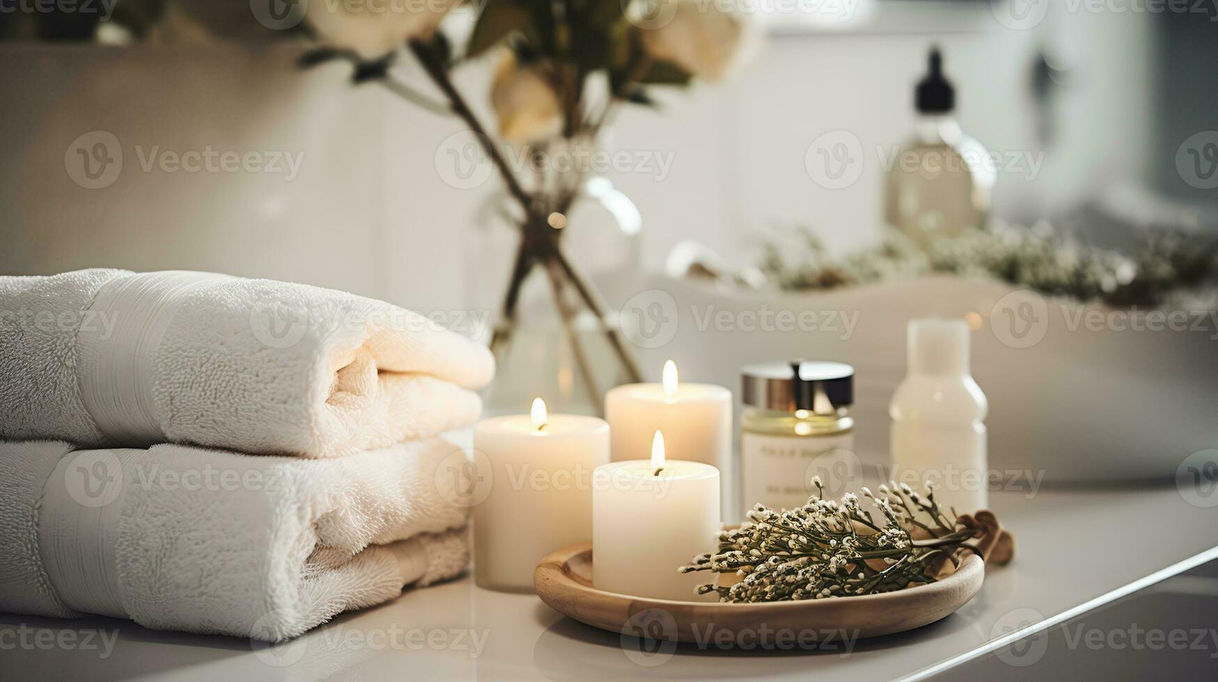
<path fill-rule="evenodd" d="M 495 363 L 350 294 L 0 278 L 0 610 L 280 641 L 460 572 Z"/>

